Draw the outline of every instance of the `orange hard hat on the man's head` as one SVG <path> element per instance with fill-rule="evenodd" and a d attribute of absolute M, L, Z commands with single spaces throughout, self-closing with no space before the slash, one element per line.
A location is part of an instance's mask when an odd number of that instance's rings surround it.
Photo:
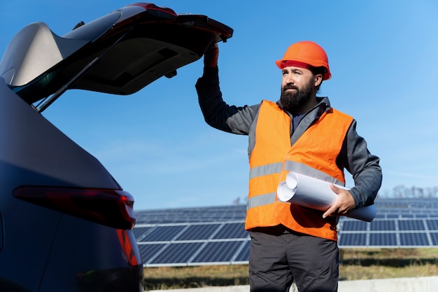
<path fill-rule="evenodd" d="M 299 41 L 298 43 L 292 44 L 289 46 L 288 50 L 286 50 L 283 59 L 278 60 L 275 63 L 280 69 L 287 67 L 288 64 L 289 66 L 296 67 L 306 67 L 305 65 L 311 67 L 324 67 L 325 73 L 323 80 L 332 77 L 325 50 L 313 41 Z M 303 66 L 300 66 L 300 64 Z"/>

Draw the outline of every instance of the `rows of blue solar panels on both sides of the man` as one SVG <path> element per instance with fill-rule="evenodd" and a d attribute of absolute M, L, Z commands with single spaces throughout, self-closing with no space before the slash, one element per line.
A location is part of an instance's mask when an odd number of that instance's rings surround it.
<path fill-rule="evenodd" d="M 379 199 L 372 222 L 341 216 L 338 246 L 438 246 L 438 199 Z M 246 206 L 136 211 L 134 236 L 145 266 L 248 263 Z"/>

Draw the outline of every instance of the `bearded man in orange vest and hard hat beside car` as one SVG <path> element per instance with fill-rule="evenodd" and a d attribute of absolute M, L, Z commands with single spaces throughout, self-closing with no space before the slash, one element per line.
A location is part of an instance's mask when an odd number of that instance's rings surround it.
<path fill-rule="evenodd" d="M 374 203 L 381 186 L 379 158 L 355 131 L 353 118 L 316 97 L 331 73 L 323 48 L 311 41 L 292 44 L 276 65 L 283 74 L 281 97 L 253 106 L 222 100 L 218 46 L 204 55 L 204 74 L 196 84 L 206 123 L 249 137 L 250 181 L 245 229 L 251 237 L 251 291 L 337 291 L 337 216 Z M 285 175 L 298 172 L 344 184 L 344 168 L 355 186 L 331 185 L 337 200 L 327 211 L 278 201 Z"/>

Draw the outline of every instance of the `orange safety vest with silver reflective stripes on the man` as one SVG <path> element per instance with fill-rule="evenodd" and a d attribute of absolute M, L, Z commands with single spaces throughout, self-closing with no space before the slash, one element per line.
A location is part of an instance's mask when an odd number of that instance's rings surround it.
<path fill-rule="evenodd" d="M 345 184 L 336 164 L 353 118 L 329 109 L 291 146 L 290 116 L 274 102 L 260 105 L 255 146 L 250 153 L 250 180 L 245 229 L 284 225 L 291 230 L 337 241 L 337 220 L 323 212 L 278 201 L 278 183 L 288 172 Z"/>

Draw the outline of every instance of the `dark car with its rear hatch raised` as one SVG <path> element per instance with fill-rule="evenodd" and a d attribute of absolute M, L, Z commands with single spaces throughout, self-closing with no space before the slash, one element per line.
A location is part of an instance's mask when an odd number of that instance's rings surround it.
<path fill-rule="evenodd" d="M 143 291 L 133 195 L 42 112 L 70 89 L 132 95 L 232 34 L 136 3 L 62 36 L 44 22 L 14 36 L 0 61 L 0 291 Z"/>

